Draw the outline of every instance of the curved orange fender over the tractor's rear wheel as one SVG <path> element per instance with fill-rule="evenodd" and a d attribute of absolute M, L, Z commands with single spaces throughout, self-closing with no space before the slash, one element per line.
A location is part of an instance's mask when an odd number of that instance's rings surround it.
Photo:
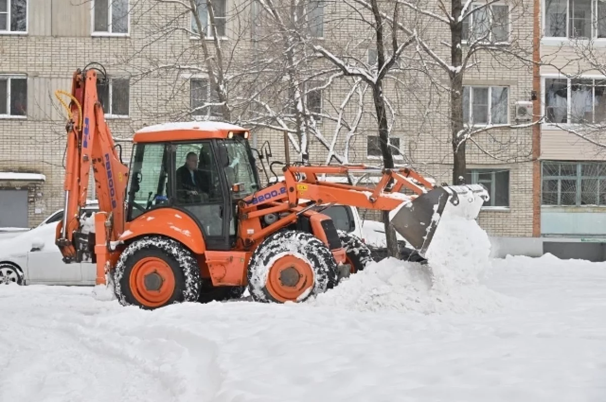
<path fill-rule="evenodd" d="M 119 240 L 128 240 L 145 234 L 161 234 L 183 243 L 196 254 L 206 251 L 202 232 L 190 216 L 173 208 L 153 209 L 126 223 L 126 231 Z"/>

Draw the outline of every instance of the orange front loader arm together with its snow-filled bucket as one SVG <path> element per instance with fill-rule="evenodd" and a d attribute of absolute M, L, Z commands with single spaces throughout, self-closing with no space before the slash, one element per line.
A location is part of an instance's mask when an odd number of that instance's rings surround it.
<path fill-rule="evenodd" d="M 482 185 L 435 186 L 421 174 L 408 168 L 377 170 L 359 166 L 286 166 L 284 180 L 242 200 L 240 233 L 250 246 L 298 219 L 315 205 L 338 203 L 365 209 L 391 211 L 396 231 L 419 254 L 424 255 L 444 213 L 447 202 L 466 219 L 475 219 L 488 193 Z M 325 182 L 319 174 L 347 175 L 380 173 L 374 188 Z M 413 194 L 400 191 L 405 188 Z M 301 200 L 310 200 L 303 203 Z M 462 213 L 461 213 L 462 210 Z M 290 214 L 287 212 L 290 211 Z M 267 214 L 281 214 L 281 219 L 260 230 L 251 228 L 251 219 Z"/>

